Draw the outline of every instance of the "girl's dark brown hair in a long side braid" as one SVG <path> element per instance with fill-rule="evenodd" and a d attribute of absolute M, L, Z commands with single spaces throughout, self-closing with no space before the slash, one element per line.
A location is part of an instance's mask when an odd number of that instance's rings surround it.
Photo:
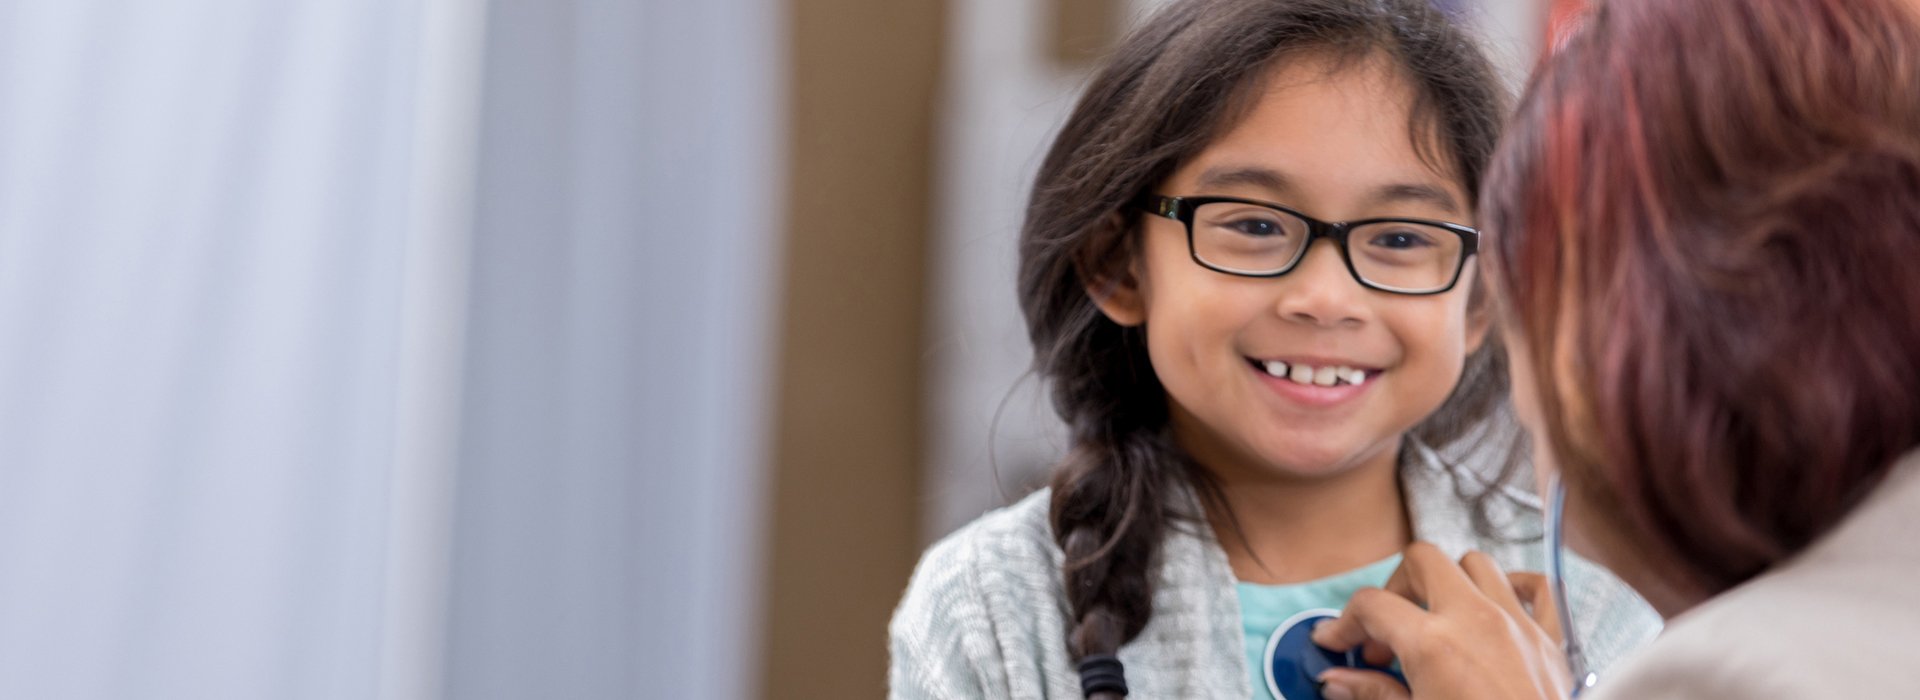
<path fill-rule="evenodd" d="M 1146 627 L 1165 529 L 1204 525 L 1169 508 L 1169 489 L 1198 487 L 1223 506 L 1167 435 L 1167 397 L 1142 332 L 1102 316 L 1089 286 L 1127 274 L 1139 230 L 1127 203 L 1231 127 L 1250 82 L 1304 54 L 1342 65 L 1386 58 L 1415 92 L 1407 136 L 1417 152 L 1478 196 L 1503 94 L 1478 46 L 1428 0 L 1185 0 L 1116 50 L 1041 165 L 1020 242 L 1035 370 L 1071 433 L 1050 516 L 1075 660 L 1114 654 Z M 1503 376 L 1488 343 L 1421 437 L 1459 437 L 1500 405 Z"/>

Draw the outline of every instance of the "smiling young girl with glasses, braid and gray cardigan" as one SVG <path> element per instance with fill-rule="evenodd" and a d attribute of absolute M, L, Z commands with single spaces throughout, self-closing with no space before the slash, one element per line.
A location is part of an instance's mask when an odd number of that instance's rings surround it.
<path fill-rule="evenodd" d="M 1415 539 L 1542 568 L 1538 501 L 1436 453 L 1503 416 L 1471 265 L 1501 92 L 1428 2 L 1173 2 L 1094 77 L 1021 232 L 1073 449 L 920 562 L 895 698 L 1269 696 L 1275 627 Z M 1569 587 L 1594 667 L 1659 629 Z"/>

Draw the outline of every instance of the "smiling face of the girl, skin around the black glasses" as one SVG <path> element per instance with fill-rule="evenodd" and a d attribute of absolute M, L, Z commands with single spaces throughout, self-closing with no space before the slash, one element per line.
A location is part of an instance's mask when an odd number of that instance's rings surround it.
<path fill-rule="evenodd" d="M 1415 153 L 1413 90 L 1386 61 L 1283 61 L 1256 90 L 1246 117 L 1156 194 L 1250 198 L 1321 221 L 1471 224 L 1465 188 Z M 1144 324 L 1175 439 L 1227 481 L 1392 464 L 1486 334 L 1484 315 L 1467 311 L 1473 265 L 1452 292 L 1398 295 L 1359 286 L 1336 244 L 1317 240 L 1284 276 L 1244 278 L 1196 265 L 1181 222 L 1140 222 L 1133 278 L 1096 297 L 1116 322 Z M 1288 378 L 1267 362 L 1286 362 Z M 1302 384 L 1290 378 L 1300 366 L 1365 378 Z"/>

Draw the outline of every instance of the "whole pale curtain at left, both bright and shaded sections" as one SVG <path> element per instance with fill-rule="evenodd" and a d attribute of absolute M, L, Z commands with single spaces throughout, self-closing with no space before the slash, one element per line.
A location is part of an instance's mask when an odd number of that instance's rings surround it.
<path fill-rule="evenodd" d="M 0 698 L 751 692 L 768 6 L 0 0 Z"/>

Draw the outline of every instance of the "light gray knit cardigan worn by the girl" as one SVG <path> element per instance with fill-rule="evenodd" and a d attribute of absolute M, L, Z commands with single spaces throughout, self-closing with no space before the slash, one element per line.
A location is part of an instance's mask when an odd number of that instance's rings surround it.
<path fill-rule="evenodd" d="M 1469 470 L 1409 443 L 1400 481 L 1417 539 L 1453 556 L 1488 552 L 1509 572 L 1542 570 L 1538 497 L 1498 487 L 1488 499 L 1498 537 L 1484 537 L 1461 497 L 1484 489 Z M 1190 491 L 1179 499 L 1196 512 Z M 1043 489 L 981 516 L 922 556 L 889 627 L 891 698 L 1081 698 L 1066 646 L 1064 554 L 1046 510 Z M 1661 629 L 1653 608 L 1599 566 L 1569 558 L 1567 587 L 1594 671 L 1605 671 Z M 1169 527 L 1154 614 L 1119 660 L 1131 700 L 1254 696 L 1233 570 L 1208 527 Z"/>

